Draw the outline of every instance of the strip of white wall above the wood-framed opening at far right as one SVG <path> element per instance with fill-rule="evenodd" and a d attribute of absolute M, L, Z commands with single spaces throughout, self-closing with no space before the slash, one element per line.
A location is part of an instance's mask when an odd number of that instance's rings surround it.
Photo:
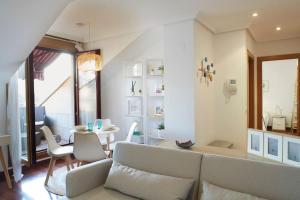
<path fill-rule="evenodd" d="M 257 56 L 300 53 L 300 38 L 256 43 Z"/>

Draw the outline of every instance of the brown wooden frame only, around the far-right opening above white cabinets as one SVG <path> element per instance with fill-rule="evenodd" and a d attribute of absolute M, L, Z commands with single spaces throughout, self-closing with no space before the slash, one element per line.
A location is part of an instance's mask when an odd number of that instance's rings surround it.
<path fill-rule="evenodd" d="M 257 58 L 257 129 L 262 130 L 262 110 L 263 110 L 263 96 L 262 96 L 262 63 L 264 61 L 274 61 L 274 60 L 289 60 L 289 59 L 298 59 L 298 104 L 297 104 L 297 117 L 300 113 L 300 70 L 299 70 L 299 64 L 300 64 L 300 53 L 296 54 L 285 54 L 285 55 L 274 55 L 274 56 L 263 56 Z M 298 120 L 297 123 L 297 135 L 300 135 L 300 120 Z"/>

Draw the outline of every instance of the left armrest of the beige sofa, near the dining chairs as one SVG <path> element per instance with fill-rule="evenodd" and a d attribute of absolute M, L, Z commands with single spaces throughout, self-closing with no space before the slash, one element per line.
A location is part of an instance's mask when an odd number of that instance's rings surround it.
<path fill-rule="evenodd" d="M 105 183 L 112 159 L 101 160 L 71 170 L 66 177 L 67 197 L 76 197 Z"/>

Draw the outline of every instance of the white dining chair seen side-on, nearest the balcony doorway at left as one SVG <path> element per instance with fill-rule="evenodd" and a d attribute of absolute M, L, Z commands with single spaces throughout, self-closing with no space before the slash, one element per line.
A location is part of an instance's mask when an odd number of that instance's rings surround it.
<path fill-rule="evenodd" d="M 47 140 L 48 143 L 47 152 L 51 158 L 48 173 L 45 180 L 45 185 L 47 185 L 49 177 L 52 176 L 53 174 L 55 162 L 57 159 L 65 160 L 68 171 L 74 168 L 71 159 L 71 154 L 73 153 L 73 146 L 60 146 L 59 144 L 57 144 L 52 131 L 47 126 L 43 126 L 41 130 L 43 131 L 45 138 Z"/>

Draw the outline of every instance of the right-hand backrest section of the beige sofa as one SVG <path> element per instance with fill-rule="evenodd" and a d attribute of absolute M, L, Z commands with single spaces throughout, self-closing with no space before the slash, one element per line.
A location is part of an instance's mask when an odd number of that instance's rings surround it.
<path fill-rule="evenodd" d="M 300 169 L 291 166 L 203 155 L 200 179 L 270 200 L 300 199 Z"/>

